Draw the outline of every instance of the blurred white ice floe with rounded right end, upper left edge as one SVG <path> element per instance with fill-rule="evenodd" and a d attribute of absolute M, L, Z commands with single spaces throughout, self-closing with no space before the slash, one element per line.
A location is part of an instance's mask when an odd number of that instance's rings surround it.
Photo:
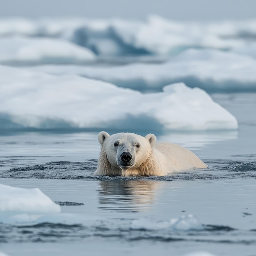
<path fill-rule="evenodd" d="M 0 63 L 81 63 L 94 58 L 90 49 L 61 39 L 0 38 Z"/>

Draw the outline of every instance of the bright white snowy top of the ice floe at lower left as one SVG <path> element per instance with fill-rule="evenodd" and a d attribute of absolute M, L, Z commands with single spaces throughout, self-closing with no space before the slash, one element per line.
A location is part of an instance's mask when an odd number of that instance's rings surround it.
<path fill-rule="evenodd" d="M 10 215 L 57 213 L 61 207 L 40 189 L 22 189 L 0 184 L 0 217 Z"/>

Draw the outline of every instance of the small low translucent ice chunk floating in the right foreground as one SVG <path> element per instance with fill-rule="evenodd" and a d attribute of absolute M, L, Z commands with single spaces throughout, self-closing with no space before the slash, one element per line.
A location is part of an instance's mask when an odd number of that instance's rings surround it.
<path fill-rule="evenodd" d="M 153 221 L 150 219 L 133 220 L 131 223 L 132 229 L 172 229 L 175 231 L 189 231 L 189 230 L 202 230 L 204 226 L 192 214 L 183 215 L 178 219 L 171 219 L 169 221 Z"/>

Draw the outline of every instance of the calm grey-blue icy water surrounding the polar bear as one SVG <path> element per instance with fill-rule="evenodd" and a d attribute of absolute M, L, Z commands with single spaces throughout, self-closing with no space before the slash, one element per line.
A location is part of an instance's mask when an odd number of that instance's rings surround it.
<path fill-rule="evenodd" d="M 0 184 L 38 187 L 62 213 L 34 225 L 0 224 L 0 251 L 255 256 L 256 94 L 213 99 L 235 115 L 239 130 L 157 135 L 209 165 L 167 177 L 94 177 L 97 132 L 2 132 Z"/>

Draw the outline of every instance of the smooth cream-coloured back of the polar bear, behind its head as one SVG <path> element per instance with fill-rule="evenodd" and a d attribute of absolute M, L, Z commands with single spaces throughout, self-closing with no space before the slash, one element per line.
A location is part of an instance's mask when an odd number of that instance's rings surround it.
<path fill-rule="evenodd" d="M 169 142 L 156 143 L 154 151 L 162 164 L 162 171 L 166 173 L 184 171 L 191 168 L 207 168 L 207 165 L 193 152 L 177 144 Z"/>

